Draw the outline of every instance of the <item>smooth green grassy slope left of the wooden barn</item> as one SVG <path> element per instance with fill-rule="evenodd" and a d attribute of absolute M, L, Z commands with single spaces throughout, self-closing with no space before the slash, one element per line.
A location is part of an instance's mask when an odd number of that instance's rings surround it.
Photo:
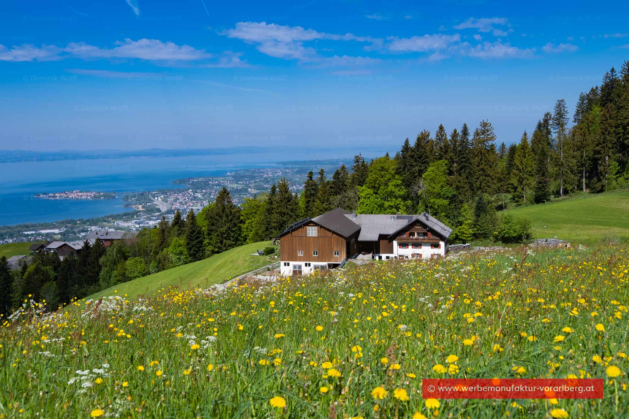
<path fill-rule="evenodd" d="M 168 286 L 179 286 L 180 289 L 208 288 L 213 284 L 227 281 L 230 277 L 235 277 L 258 267 L 269 264 L 273 260 L 270 257 L 252 255 L 257 249 L 269 246 L 270 242 L 257 242 L 234 249 L 227 250 L 218 255 L 199 260 L 191 264 L 167 269 L 135 279 L 123 282 L 98 293 L 87 296 L 86 299 L 98 299 L 101 296 L 116 294 L 135 297 L 138 294 L 146 296 L 157 292 L 158 289 L 168 288 Z"/>

